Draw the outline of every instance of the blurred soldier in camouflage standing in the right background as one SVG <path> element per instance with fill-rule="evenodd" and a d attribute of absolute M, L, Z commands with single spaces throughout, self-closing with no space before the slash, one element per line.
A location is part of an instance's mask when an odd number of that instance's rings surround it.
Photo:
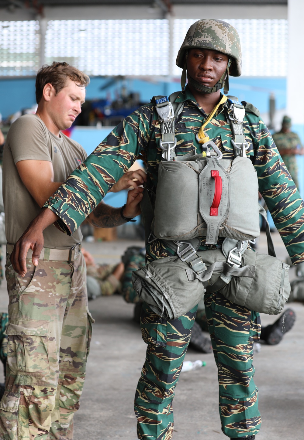
<path fill-rule="evenodd" d="M 281 154 L 282 160 L 289 171 L 294 183 L 299 189 L 298 182 L 298 165 L 296 154 L 304 154 L 304 148 L 297 133 L 290 131 L 291 119 L 288 116 L 284 116 L 282 120 L 282 128 L 278 133 L 272 135 L 272 139 L 278 152 Z"/>

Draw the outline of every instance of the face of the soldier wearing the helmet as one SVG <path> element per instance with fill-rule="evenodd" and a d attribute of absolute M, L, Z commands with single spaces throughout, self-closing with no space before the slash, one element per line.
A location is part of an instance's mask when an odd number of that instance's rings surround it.
<path fill-rule="evenodd" d="M 213 87 L 226 70 L 229 57 L 211 49 L 190 49 L 187 57 L 188 75 L 202 85 Z"/>

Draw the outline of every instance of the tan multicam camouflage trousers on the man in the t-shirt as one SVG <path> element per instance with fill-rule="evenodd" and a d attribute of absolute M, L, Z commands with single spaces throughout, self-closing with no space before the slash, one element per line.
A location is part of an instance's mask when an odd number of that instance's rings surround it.
<path fill-rule="evenodd" d="M 9 267 L 7 374 L 0 438 L 71 440 L 85 380 L 92 318 L 85 261 L 26 260 L 21 278 Z"/>

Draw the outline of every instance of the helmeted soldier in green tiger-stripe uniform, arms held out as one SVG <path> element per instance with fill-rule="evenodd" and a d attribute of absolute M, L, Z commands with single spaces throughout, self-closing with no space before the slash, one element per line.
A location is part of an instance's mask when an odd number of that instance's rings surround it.
<path fill-rule="evenodd" d="M 175 121 L 175 154 L 185 155 L 193 150 L 200 154 L 202 145 L 195 135 L 207 114 L 220 102 L 220 88 L 226 85 L 227 89 L 228 70 L 234 76 L 241 74 L 237 31 L 226 22 L 199 20 L 188 31 L 177 64 L 183 68 L 182 86 L 187 71 L 189 84 L 175 99 L 176 103 L 184 104 Z M 259 111 L 252 104 L 243 102 L 243 105 L 246 154 L 256 169 L 260 192 L 292 262 L 299 264 L 304 261 L 303 200 Z M 228 115 L 227 102 L 222 103 L 205 133 L 222 151 L 224 159 L 233 159 Z M 141 106 L 126 117 L 49 198 L 44 205 L 47 209 L 32 222 L 11 255 L 15 270 L 26 272 L 22 255 L 30 246 L 34 247 L 33 261 L 38 260 L 43 246 L 42 231 L 48 224 L 57 221 L 62 231 L 73 233 L 139 154 L 143 154 L 147 163 L 148 188 L 155 192 L 163 152 L 159 139 L 161 124 L 154 103 Z M 214 246 L 221 244 L 219 239 Z M 203 237 L 200 250 L 208 251 L 214 246 L 206 245 Z M 148 242 L 146 250 L 148 261 L 174 254 L 159 239 Z M 253 343 L 259 340 L 260 334 L 260 316 L 227 301 L 218 292 L 207 294 L 204 301 L 218 366 L 222 431 L 232 439 L 252 440 L 261 423 L 252 365 Z M 197 306 L 180 318 L 167 321 L 152 312 L 148 304 L 143 304 L 141 329 L 148 347 L 135 396 L 140 439 L 169 440 L 172 437 L 174 389 L 189 345 L 196 309 Z"/>

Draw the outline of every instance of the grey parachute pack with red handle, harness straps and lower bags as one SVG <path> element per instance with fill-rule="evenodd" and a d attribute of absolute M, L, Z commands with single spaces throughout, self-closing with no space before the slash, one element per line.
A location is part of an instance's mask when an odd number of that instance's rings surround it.
<path fill-rule="evenodd" d="M 193 308 L 204 293 L 219 291 L 229 301 L 256 312 L 278 314 L 290 293 L 289 265 L 276 258 L 267 222 L 269 255 L 248 246 L 260 235 L 258 180 L 246 156 L 243 121 L 245 108 L 237 98 L 223 96 L 208 116 L 196 140 L 202 154 L 175 154 L 174 121 L 183 103 L 178 93 L 156 96 L 161 122 L 163 161 L 159 164 L 156 194 L 147 187 L 141 203 L 145 238 L 161 239 L 177 256 L 160 258 L 133 272 L 133 286 L 143 301 L 160 316 L 176 319 Z M 204 133 L 219 105 L 227 100 L 227 117 L 234 159 L 222 152 Z M 198 251 L 201 237 L 221 249 Z"/>

